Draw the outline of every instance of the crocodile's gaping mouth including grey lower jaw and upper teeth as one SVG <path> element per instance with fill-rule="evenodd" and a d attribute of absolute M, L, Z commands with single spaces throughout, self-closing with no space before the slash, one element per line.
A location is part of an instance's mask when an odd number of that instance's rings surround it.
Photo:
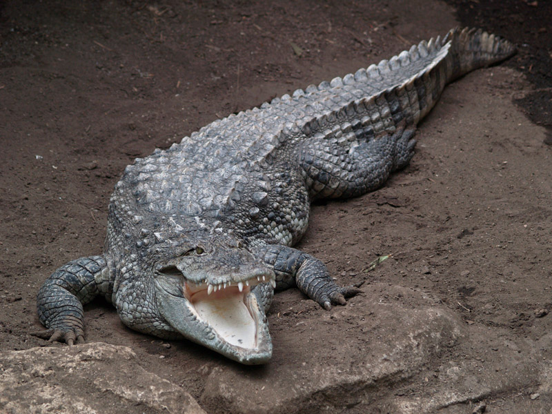
<path fill-rule="evenodd" d="M 170 330 L 243 364 L 270 359 L 264 300 L 276 284 L 273 272 L 253 266 L 242 275 L 230 271 L 224 277 L 211 269 L 208 276 L 196 278 L 202 282 L 194 282 L 177 274 L 174 266 L 159 270 L 155 300 Z M 223 279 L 226 282 L 220 282 Z"/>

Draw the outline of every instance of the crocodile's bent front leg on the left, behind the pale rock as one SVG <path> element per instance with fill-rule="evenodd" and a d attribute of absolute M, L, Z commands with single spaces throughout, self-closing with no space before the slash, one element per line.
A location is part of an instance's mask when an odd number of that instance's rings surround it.
<path fill-rule="evenodd" d="M 109 300 L 112 277 L 103 256 L 81 257 L 57 269 L 42 285 L 37 311 L 45 331 L 32 335 L 69 345 L 84 342 L 83 305 L 98 294 Z"/>

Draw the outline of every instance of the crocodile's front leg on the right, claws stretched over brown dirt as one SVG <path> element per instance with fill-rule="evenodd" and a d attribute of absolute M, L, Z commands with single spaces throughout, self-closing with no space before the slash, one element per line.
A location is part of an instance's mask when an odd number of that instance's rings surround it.
<path fill-rule="evenodd" d="M 297 284 L 299 290 L 328 311 L 332 305 L 346 304 L 347 297 L 360 292 L 353 286 L 337 286 L 324 263 L 295 248 L 279 244 L 268 245 L 262 249 L 260 257 L 273 268 L 277 289 L 286 289 Z"/>

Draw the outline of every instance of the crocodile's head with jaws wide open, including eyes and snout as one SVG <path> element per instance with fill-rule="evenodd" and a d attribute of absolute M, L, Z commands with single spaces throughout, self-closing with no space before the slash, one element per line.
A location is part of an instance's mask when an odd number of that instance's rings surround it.
<path fill-rule="evenodd" d="M 187 242 L 155 265 L 154 285 L 159 313 L 184 337 L 242 364 L 270 359 L 263 302 L 275 275 L 241 242 Z"/>

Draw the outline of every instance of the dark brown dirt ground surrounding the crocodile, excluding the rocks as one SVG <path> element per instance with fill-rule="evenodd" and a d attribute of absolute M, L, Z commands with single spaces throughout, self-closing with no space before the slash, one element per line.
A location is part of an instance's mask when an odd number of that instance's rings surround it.
<path fill-rule="evenodd" d="M 411 165 L 375 193 L 314 206 L 298 248 L 341 284 L 366 280 L 363 295 L 392 301 L 382 286 L 411 288 L 466 328 L 552 358 L 550 21 L 542 0 L 0 3 L 0 352 L 45 344 L 29 335 L 40 327 L 37 291 L 70 259 L 101 253 L 110 193 L 133 159 L 461 25 L 519 52 L 451 84 L 420 125 Z M 363 317 L 357 300 L 352 312 Z M 331 358 L 346 326 L 326 337 L 297 331 L 299 322 L 322 326 L 324 312 L 297 290 L 277 295 L 271 364 L 291 349 L 308 360 L 313 342 Z M 101 300 L 86 306 L 86 334 L 132 347 L 206 411 L 221 409 L 201 400 L 199 368 L 228 365 L 223 357 L 130 331 Z M 480 339 L 471 355 L 492 348 Z M 552 410 L 538 386 L 486 395 L 487 412 L 539 398 Z"/>

